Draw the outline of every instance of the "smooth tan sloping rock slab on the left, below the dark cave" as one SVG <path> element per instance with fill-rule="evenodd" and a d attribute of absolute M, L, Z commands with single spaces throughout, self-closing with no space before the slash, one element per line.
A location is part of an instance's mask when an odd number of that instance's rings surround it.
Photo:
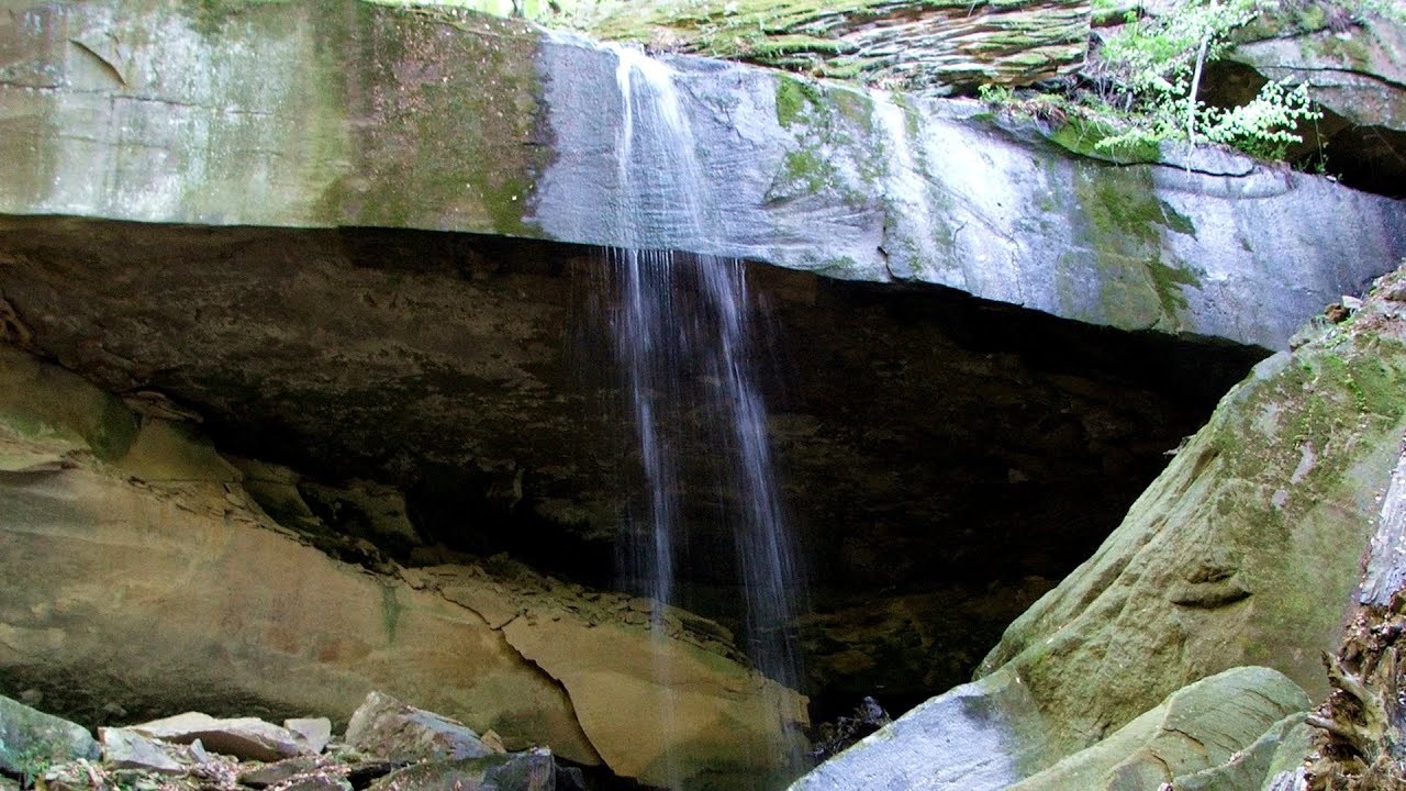
<path fill-rule="evenodd" d="M 662 733 L 683 750 L 675 777 L 688 787 L 775 771 L 754 746 L 785 732 L 780 711 L 803 719 L 794 692 L 693 640 L 675 646 L 676 671 L 711 718 L 671 732 L 637 716 L 671 697 L 633 677 L 652 680 L 652 667 L 613 660 L 664 638 L 626 628 L 613 598 L 588 624 L 540 580 L 523 598 L 478 567 L 384 576 L 339 563 L 274 524 L 191 426 L 139 417 L 4 345 L 0 374 L 0 678 L 52 711 L 344 721 L 387 690 L 512 749 L 550 745 L 650 784 L 666 780 L 648 747 Z M 550 647 L 568 638 L 571 652 Z M 547 647 L 529 659 L 515 645 Z"/>

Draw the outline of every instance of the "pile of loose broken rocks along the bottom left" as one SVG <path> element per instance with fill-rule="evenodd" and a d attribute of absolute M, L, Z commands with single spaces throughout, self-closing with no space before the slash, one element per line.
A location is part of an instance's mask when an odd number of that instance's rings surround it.
<path fill-rule="evenodd" d="M 332 740 L 326 718 L 187 712 L 84 728 L 0 698 L 0 788 L 41 791 L 572 791 L 579 768 L 547 747 L 506 752 L 437 714 L 371 692 Z"/>

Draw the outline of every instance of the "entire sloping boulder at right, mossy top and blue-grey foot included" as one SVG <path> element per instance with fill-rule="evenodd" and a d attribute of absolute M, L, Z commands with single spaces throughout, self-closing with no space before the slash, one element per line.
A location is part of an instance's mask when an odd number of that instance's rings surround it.
<path fill-rule="evenodd" d="M 1313 325 L 1232 390 L 1094 557 L 1007 629 L 976 681 L 794 788 L 1105 787 L 1083 774 L 1060 785 L 1078 767 L 1107 774 L 1108 788 L 1177 777 L 1189 791 L 1258 788 L 1277 774 L 1288 760 L 1278 743 L 1302 740 L 1289 715 L 1308 698 L 1295 684 L 1327 691 L 1319 657 L 1339 640 L 1406 432 L 1403 280 L 1384 277 L 1346 321 Z M 1202 678 L 1244 678 L 1227 669 L 1246 664 L 1271 667 L 1253 670 L 1261 680 L 1282 673 L 1274 685 L 1292 694 L 1220 742 L 1223 754 L 1142 778 L 1167 764 L 1136 757 L 1143 740 L 1130 735 L 1149 725 L 1139 715 Z"/>

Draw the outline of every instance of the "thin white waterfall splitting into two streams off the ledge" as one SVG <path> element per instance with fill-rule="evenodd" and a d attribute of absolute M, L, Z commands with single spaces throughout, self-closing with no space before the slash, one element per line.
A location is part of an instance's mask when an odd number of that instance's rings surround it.
<path fill-rule="evenodd" d="M 648 524 L 638 531 L 631 562 L 645 595 L 665 604 L 675 600 L 686 514 L 697 511 L 681 498 L 683 469 L 697 467 L 681 457 L 681 446 L 696 448 L 700 439 L 679 432 L 689 426 L 704 432 L 703 445 L 713 456 L 704 467 L 718 479 L 710 487 L 728 493 L 721 518 L 737 555 L 748 653 L 763 674 L 794 688 L 799 656 L 786 628 L 797 608 L 794 548 L 756 383 L 745 273 L 731 258 L 643 249 L 659 231 L 707 239 L 720 220 L 679 103 L 676 73 L 640 51 L 614 52 L 623 101 L 617 177 L 624 196 L 616 211 L 631 242 L 610 253 L 620 284 L 616 352 L 648 490 L 641 515 Z M 682 419 L 685 414 L 692 419 Z M 661 664 L 657 673 L 668 685 L 669 669 Z"/>

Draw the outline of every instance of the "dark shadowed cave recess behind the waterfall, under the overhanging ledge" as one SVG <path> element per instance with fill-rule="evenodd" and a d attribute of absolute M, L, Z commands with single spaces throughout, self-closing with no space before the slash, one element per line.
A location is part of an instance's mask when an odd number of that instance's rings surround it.
<path fill-rule="evenodd" d="M 242 456 L 152 428 L 134 474 L 242 476 L 280 525 L 380 570 L 443 563 L 444 545 L 610 583 L 621 525 L 645 502 L 612 277 L 599 251 L 468 235 L 0 221 L 13 342 L 143 414 L 201 418 Z M 903 708 L 969 677 L 1263 355 L 950 291 L 761 266 L 748 279 L 820 611 L 803 640 L 837 712 L 866 694 Z M 690 298 L 681 286 L 675 300 Z M 735 504 L 695 470 L 721 408 L 683 404 L 664 422 L 689 460 L 681 604 L 735 628 L 717 518 Z"/>

